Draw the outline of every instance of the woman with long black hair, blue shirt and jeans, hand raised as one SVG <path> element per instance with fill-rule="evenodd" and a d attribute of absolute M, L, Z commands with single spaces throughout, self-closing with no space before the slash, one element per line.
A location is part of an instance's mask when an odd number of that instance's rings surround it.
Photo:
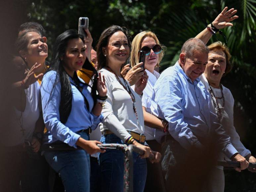
<path fill-rule="evenodd" d="M 76 71 L 86 60 L 83 38 L 76 30 L 67 30 L 57 37 L 51 67 L 41 85 L 48 129 L 44 156 L 60 173 L 67 192 L 89 192 L 89 154 L 103 152 L 97 146 L 99 141 L 89 141 L 89 132 L 103 119 L 101 110 L 107 89 L 100 73 L 94 77 L 92 87 L 77 77 Z"/>

